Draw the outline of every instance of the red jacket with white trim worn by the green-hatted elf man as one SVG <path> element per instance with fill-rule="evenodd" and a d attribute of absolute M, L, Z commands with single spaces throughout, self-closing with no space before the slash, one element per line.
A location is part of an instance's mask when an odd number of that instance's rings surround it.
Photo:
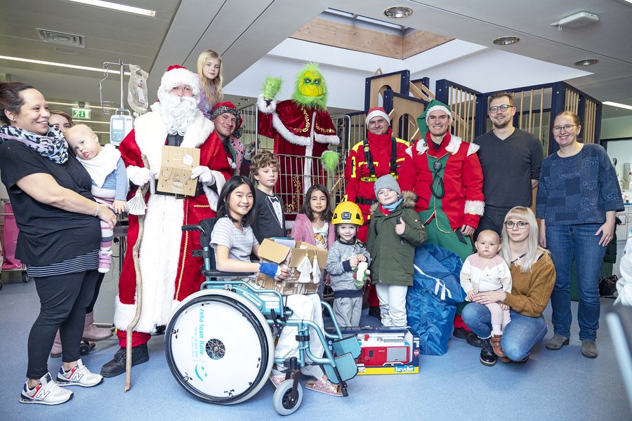
<path fill-rule="evenodd" d="M 430 146 L 429 146 L 430 145 Z M 414 192 L 418 196 L 415 210 L 428 210 L 432 192 L 433 171 L 428 166 L 428 155 L 437 159 L 449 155 L 445 161 L 444 188 L 445 195 L 441 199 L 441 207 L 447 215 L 452 229 L 460 229 L 463 225 L 478 227 L 478 221 L 485 209 L 485 196 L 482 194 L 482 170 L 476 151 L 479 146 L 463 142 L 458 136 L 447 133 L 439 149 L 435 149 L 430 141 L 430 132 L 426 140 L 419 139 L 408 149 L 412 156 L 416 171 Z M 432 220 L 422 221 L 424 224 Z"/>

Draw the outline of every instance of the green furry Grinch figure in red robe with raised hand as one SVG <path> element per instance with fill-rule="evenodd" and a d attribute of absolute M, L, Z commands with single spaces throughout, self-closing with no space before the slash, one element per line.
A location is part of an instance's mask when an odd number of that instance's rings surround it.
<path fill-rule="evenodd" d="M 258 133 L 274 139 L 279 156 L 277 194 L 284 200 L 285 213 L 298 213 L 307 189 L 327 184 L 322 161 L 331 160 L 325 163 L 328 169 L 338 165 L 336 152 L 327 147 L 337 146 L 340 139 L 327 112 L 327 85 L 315 63 L 298 74 L 291 100 L 277 103 L 280 86 L 280 79 L 265 81 L 257 101 Z"/>

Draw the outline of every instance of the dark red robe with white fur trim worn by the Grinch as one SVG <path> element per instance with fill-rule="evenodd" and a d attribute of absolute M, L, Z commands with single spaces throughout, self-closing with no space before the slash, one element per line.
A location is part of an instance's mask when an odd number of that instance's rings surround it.
<path fill-rule="evenodd" d="M 265 103 L 258 101 L 258 133 L 274 139 L 279 154 L 277 194 L 282 196 L 286 213 L 298 213 L 303 196 L 312 184 L 324 182 L 320 158 L 328 145 L 338 145 L 334 122 L 327 111 L 303 108 L 293 100 Z"/>

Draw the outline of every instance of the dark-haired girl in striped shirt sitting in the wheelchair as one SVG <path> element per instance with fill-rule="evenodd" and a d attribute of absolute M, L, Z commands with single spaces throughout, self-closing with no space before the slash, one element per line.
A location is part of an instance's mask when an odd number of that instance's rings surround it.
<path fill-rule="evenodd" d="M 284 279 L 288 271 L 275 263 L 257 263 L 250 261 L 251 253 L 257 254 L 259 243 L 252 232 L 251 224 L 256 219 L 255 196 L 252 182 L 244 176 L 230 178 L 220 193 L 218 199 L 217 216 L 220 218 L 211 233 L 211 246 L 215 248 L 217 268 L 222 272 L 261 272 L 271 278 Z M 322 309 L 318 294 L 289 295 L 285 300 L 293 314 L 290 319 L 310 320 L 322 324 Z M 296 326 L 285 326 L 275 348 L 275 358 L 289 359 L 298 356 L 298 335 Z M 310 335 L 310 351 L 315 356 L 322 356 L 324 349 L 317 335 Z M 285 380 L 284 371 L 287 368 L 277 366 L 272 370 L 270 380 L 278 387 Z M 305 387 L 317 392 L 324 392 L 334 396 L 342 396 L 338 385 L 334 385 L 322 368 L 317 365 L 307 365 L 301 368 L 301 373 L 315 377 L 308 380 Z"/>

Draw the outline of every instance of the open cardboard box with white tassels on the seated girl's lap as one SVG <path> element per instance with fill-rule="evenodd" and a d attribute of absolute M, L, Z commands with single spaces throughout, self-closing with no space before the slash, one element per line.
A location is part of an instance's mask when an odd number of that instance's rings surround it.
<path fill-rule="evenodd" d="M 272 262 L 289 269 L 283 281 L 259 272 L 256 284 L 282 295 L 310 294 L 318 290 L 322 271 L 327 265 L 327 250 L 293 239 L 264 239 L 259 246 L 261 262 Z"/>

